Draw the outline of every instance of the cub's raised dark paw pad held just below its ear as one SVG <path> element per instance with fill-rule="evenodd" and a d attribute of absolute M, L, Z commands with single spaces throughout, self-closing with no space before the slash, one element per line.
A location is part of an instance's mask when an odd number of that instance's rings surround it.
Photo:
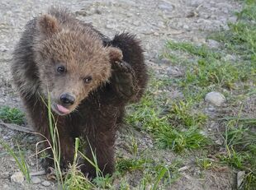
<path fill-rule="evenodd" d="M 135 95 L 136 81 L 135 72 L 130 64 L 121 61 L 112 64 L 111 84 L 115 86 L 116 91 L 126 98 Z"/>

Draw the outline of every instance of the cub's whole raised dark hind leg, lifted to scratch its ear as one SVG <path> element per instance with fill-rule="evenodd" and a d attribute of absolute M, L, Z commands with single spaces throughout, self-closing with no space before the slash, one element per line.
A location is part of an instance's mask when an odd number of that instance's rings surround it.
<path fill-rule="evenodd" d="M 121 49 L 123 54 L 120 63 L 112 63 L 110 86 L 117 89 L 114 93 L 121 95 L 122 103 L 140 100 L 148 79 L 140 41 L 135 39 L 135 35 L 123 33 L 116 35 L 110 44 Z"/>

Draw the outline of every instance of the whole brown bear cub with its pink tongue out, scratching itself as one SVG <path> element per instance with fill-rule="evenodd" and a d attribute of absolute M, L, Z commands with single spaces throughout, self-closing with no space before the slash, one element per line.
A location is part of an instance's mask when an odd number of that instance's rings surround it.
<path fill-rule="evenodd" d="M 143 95 L 146 72 L 134 35 L 108 39 L 92 25 L 55 8 L 27 23 L 13 53 L 13 81 L 35 131 L 50 140 L 45 105 L 50 97 L 62 166 L 73 162 L 75 137 L 82 137 L 92 146 L 103 174 L 114 171 L 117 126 L 126 104 Z M 91 160 L 92 151 L 90 146 L 84 151 Z M 48 160 L 46 169 L 50 165 Z M 86 161 L 81 170 L 95 176 Z"/>

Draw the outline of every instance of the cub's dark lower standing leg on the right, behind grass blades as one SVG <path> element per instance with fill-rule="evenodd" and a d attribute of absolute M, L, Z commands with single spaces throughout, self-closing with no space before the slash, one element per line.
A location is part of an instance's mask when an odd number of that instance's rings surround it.
<path fill-rule="evenodd" d="M 97 166 L 102 171 L 103 175 L 112 174 L 115 170 L 114 165 L 114 142 L 115 132 L 95 132 L 94 135 L 88 135 L 86 156 L 89 160 L 93 160 L 93 155 L 97 159 Z M 93 154 L 93 155 L 92 155 Z M 97 176 L 96 168 L 85 160 L 85 165 L 81 167 L 83 174 L 88 174 L 89 177 Z"/>

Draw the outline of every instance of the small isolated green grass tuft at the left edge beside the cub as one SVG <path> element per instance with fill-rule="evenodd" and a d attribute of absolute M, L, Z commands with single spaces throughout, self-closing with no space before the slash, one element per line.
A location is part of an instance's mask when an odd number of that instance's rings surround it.
<path fill-rule="evenodd" d="M 0 108 L 0 118 L 5 123 L 21 125 L 24 123 L 25 114 L 23 114 L 19 109 L 3 106 Z"/>

